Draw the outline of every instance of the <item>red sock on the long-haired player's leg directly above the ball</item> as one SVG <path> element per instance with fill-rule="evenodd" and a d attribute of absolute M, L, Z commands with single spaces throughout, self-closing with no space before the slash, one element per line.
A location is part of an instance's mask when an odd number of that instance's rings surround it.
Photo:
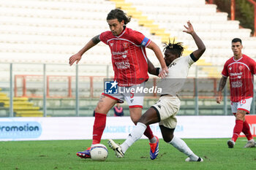
<path fill-rule="evenodd" d="M 107 115 L 95 112 L 94 130 L 92 133 L 92 144 L 99 144 L 105 129 Z"/>

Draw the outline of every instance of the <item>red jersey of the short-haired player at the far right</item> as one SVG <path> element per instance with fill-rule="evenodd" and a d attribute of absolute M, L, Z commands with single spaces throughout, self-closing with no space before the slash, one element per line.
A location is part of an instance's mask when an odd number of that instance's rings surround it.
<path fill-rule="evenodd" d="M 226 61 L 222 76 L 230 77 L 230 101 L 238 102 L 253 97 L 253 74 L 256 63 L 252 58 L 242 55 L 237 61 L 234 57 Z"/>

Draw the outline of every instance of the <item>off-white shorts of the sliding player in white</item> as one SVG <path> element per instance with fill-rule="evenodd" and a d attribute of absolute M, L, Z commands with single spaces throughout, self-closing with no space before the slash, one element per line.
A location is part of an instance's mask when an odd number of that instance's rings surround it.
<path fill-rule="evenodd" d="M 176 128 L 177 119 L 176 115 L 181 106 L 181 101 L 176 96 L 161 96 L 159 101 L 152 107 L 157 110 L 159 114 L 159 125 L 163 125 L 166 128 Z"/>

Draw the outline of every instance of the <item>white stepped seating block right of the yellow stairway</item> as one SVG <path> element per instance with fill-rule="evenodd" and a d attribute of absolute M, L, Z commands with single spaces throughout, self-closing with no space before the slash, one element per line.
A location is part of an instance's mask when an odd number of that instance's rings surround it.
<path fill-rule="evenodd" d="M 230 41 L 234 37 L 243 39 L 244 53 L 250 52 L 250 56 L 256 58 L 256 53 L 252 52 L 255 48 L 255 37 L 250 37 L 251 30 L 239 28 L 238 20 L 227 20 L 227 13 L 217 12 L 216 5 L 206 4 L 204 0 L 166 0 L 157 3 L 153 0 L 113 1 L 116 2 L 116 7 L 124 6 L 123 9 L 127 9 L 128 13 L 130 7 L 136 9 L 141 15 L 146 15 L 148 20 L 154 20 L 152 25 L 158 25 L 160 29 L 163 29 L 165 36 L 169 34 L 170 37 L 175 37 L 176 41 L 184 42 L 184 45 L 189 47 L 187 53 L 196 47 L 192 38 L 182 32 L 184 23 L 191 20 L 207 48 L 205 58 L 200 59 L 197 65 L 222 66 L 227 58 L 230 58 Z M 184 55 L 187 53 L 185 52 Z M 208 73 L 207 77 L 219 77 L 219 73 L 213 74 L 211 70 L 205 69 Z"/>

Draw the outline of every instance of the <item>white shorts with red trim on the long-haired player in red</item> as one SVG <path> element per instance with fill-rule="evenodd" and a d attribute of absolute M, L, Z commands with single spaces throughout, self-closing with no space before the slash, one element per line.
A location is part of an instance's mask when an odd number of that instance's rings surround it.
<path fill-rule="evenodd" d="M 140 85 L 132 85 L 129 87 L 120 87 L 117 94 L 106 94 L 102 93 L 104 96 L 108 96 L 117 100 L 118 103 L 124 103 L 124 100 L 127 101 L 129 108 L 140 107 L 143 108 L 143 100 L 144 94 L 143 93 L 132 93 L 131 89 L 137 88 L 144 88 L 145 82 L 141 83 Z"/>

